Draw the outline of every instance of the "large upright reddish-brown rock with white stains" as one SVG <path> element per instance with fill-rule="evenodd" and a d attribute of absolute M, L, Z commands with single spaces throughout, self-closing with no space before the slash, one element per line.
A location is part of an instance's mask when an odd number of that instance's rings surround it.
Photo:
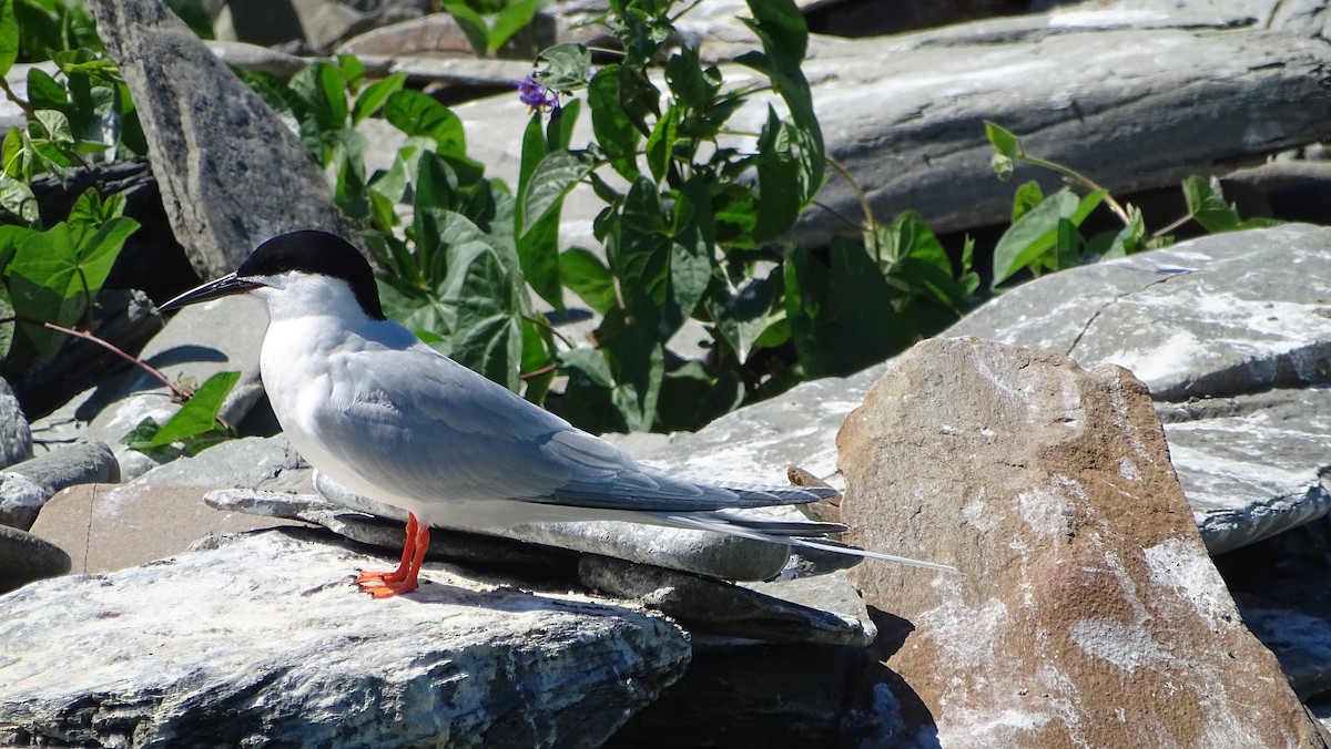
<path fill-rule="evenodd" d="M 1326 741 L 1243 627 L 1130 373 L 926 341 L 837 446 L 856 536 L 960 568 L 852 572 L 914 625 L 888 664 L 944 746 Z"/>

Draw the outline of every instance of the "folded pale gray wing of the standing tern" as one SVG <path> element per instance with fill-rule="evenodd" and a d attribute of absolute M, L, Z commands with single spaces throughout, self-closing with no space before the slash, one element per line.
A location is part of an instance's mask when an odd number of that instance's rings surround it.
<path fill-rule="evenodd" d="M 350 375 L 342 382 L 361 386 L 327 403 L 319 419 L 330 438 L 325 444 L 394 494 L 672 512 L 825 496 L 796 487 L 700 484 L 639 466 L 425 346 L 366 350 L 342 366 Z"/>

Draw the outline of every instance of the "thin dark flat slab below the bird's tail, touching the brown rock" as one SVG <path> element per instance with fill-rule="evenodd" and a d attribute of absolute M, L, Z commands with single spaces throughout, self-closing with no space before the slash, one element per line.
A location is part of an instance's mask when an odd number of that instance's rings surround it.
<path fill-rule="evenodd" d="M 829 583 L 835 579 L 824 576 L 805 577 L 804 585 L 773 583 L 759 591 L 606 556 L 583 557 L 578 571 L 588 588 L 640 601 L 675 619 L 689 632 L 861 648 L 877 635 L 868 616 L 861 620 L 777 597 L 783 588 L 805 592 L 832 587 Z M 853 588 L 851 596 L 855 597 Z"/>

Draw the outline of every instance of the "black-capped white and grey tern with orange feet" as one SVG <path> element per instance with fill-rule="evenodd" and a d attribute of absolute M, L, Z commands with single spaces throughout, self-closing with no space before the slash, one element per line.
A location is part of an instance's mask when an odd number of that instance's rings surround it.
<path fill-rule="evenodd" d="M 736 512 L 836 490 L 701 482 L 638 463 L 389 319 L 373 267 L 339 235 L 273 237 L 160 309 L 234 294 L 268 307 L 260 376 L 291 446 L 343 487 L 407 512 L 398 567 L 355 577 L 374 597 L 415 591 L 430 527 L 454 524 L 627 520 L 954 571 L 833 541 L 845 531 L 836 523 Z"/>

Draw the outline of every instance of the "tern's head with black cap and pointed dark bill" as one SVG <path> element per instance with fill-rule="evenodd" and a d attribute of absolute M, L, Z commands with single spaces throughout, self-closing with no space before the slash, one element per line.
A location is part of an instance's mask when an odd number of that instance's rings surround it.
<path fill-rule="evenodd" d="M 358 305 L 370 319 L 386 319 L 370 263 L 346 239 L 313 229 L 273 237 L 236 273 L 185 291 L 160 309 L 170 311 L 250 291 L 258 291 L 270 313 L 306 306 L 318 309 L 341 297 Z"/>

